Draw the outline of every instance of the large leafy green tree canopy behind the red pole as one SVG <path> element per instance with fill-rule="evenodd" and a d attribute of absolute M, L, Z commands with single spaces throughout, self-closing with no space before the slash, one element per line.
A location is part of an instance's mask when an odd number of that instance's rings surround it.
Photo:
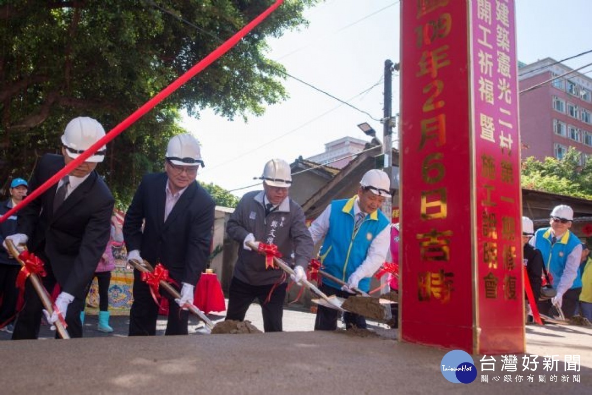
<path fill-rule="evenodd" d="M 8 0 L 0 5 L 0 180 L 27 177 L 59 152 L 70 119 L 91 116 L 109 131 L 253 20 L 273 0 Z M 233 119 L 261 115 L 287 98 L 284 68 L 266 39 L 305 24 L 317 0 L 287 0 L 255 30 L 107 147 L 99 173 L 127 203 L 181 111 Z M 220 144 L 225 144 L 221 140 Z"/>

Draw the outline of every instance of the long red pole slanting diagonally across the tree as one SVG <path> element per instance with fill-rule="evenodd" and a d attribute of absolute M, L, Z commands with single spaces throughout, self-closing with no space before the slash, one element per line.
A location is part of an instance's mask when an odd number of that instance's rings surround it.
<path fill-rule="evenodd" d="M 234 47 L 239 40 L 247 35 L 253 28 L 259 25 L 265 18 L 269 16 L 272 12 L 278 8 L 284 0 L 276 0 L 274 4 L 271 5 L 268 9 L 262 12 L 257 18 L 249 22 L 249 24 L 245 25 L 241 30 L 239 30 L 236 34 L 230 37 L 228 40 L 224 41 L 218 48 L 212 51 L 208 56 L 202 59 L 199 63 L 195 64 L 195 66 L 191 67 L 184 75 L 180 76 L 178 79 L 170 83 L 165 89 L 161 90 L 156 96 L 152 99 L 147 101 L 143 106 L 133 112 L 130 116 L 124 119 L 119 125 L 112 128 L 107 134 L 105 134 L 101 140 L 97 141 L 95 144 L 91 145 L 88 150 L 84 151 L 78 158 L 71 161 L 67 164 L 62 170 L 58 171 L 54 174 L 49 180 L 41 184 L 36 190 L 31 192 L 31 195 L 28 195 L 27 198 L 23 199 L 18 205 L 14 206 L 10 209 L 7 213 L 5 213 L 2 217 L 0 217 L 0 223 L 6 221 L 6 219 L 13 215 L 14 213 L 20 211 L 20 209 L 24 208 L 31 202 L 31 200 L 36 199 L 37 196 L 41 195 L 41 193 L 45 192 L 47 189 L 52 187 L 53 184 L 57 183 L 63 176 L 70 173 L 70 171 L 74 170 L 78 167 L 83 161 L 87 158 L 91 157 L 99 148 L 103 145 L 109 143 L 115 137 L 117 137 L 121 132 L 126 130 L 130 127 L 134 122 L 144 116 L 147 112 L 153 109 L 158 103 L 163 101 L 167 98 L 171 93 L 175 92 L 175 90 L 179 89 L 185 82 L 190 80 L 192 77 L 200 73 L 206 67 L 210 66 L 215 60 L 221 57 L 223 54 L 227 53 L 230 48 Z"/>

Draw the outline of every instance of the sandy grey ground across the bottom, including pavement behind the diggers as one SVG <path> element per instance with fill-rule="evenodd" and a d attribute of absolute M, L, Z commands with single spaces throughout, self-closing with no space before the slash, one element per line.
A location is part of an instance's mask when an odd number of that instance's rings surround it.
<path fill-rule="evenodd" d="M 262 329 L 259 306 L 252 305 L 246 319 Z M 313 332 L 314 315 L 291 307 L 284 314 L 285 332 L 274 334 L 202 335 L 202 324 L 192 320 L 188 336 L 128 338 L 127 316 L 112 317 L 111 324 L 115 331 L 102 334 L 96 316 L 88 316 L 83 339 L 55 341 L 44 326 L 44 340 L 0 342 L 0 393 L 592 393 L 592 329 L 578 326 L 527 326 L 527 357 L 539 355 L 541 362 L 543 355 L 558 355 L 554 372 L 542 362 L 535 371 L 523 371 L 523 355 L 517 355 L 515 372 L 501 370 L 500 355 L 494 356 L 495 371 L 482 371 L 482 356 L 473 355 L 477 379 L 453 384 L 440 373 L 446 350 L 398 342 L 396 329 L 375 322 L 375 336 Z M 164 325 L 159 320 L 160 334 Z M 0 332 L 0 339 L 8 338 Z M 579 371 L 566 370 L 566 355 L 580 357 Z M 482 382 L 484 375 L 488 382 Z"/>

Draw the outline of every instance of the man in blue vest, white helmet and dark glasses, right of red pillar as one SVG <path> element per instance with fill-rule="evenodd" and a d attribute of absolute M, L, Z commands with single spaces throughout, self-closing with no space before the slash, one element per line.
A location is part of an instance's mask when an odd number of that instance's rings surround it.
<path fill-rule="evenodd" d="M 530 239 L 533 245 L 543 255 L 543 263 L 551 276 L 553 287 L 557 295 L 551 300 L 538 303 L 539 312 L 549 314 L 552 306 L 562 309 L 565 318 L 575 315 L 582 279 L 580 271 L 582 244 L 580 239 L 570 232 L 574 211 L 570 206 L 559 205 L 551 211 L 549 228 L 536 231 Z"/>

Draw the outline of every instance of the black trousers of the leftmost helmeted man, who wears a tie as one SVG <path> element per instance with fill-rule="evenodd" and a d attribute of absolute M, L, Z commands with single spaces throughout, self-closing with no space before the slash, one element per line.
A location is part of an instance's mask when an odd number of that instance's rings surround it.
<path fill-rule="evenodd" d="M 44 260 L 47 262 L 47 260 Z M 51 266 L 45 265 L 47 276 L 40 277 L 43 286 L 49 292 L 52 293 L 56 286 L 56 278 L 53 276 Z M 74 297 L 72 303 L 68 305 L 66 311 L 66 325 L 67 332 L 70 338 L 81 338 L 82 337 L 82 322 L 80 320 L 80 312 L 84 307 L 84 300 L 79 297 Z M 14 332 L 12 333 L 12 340 L 21 339 L 37 339 L 39 337 L 39 328 L 41 326 L 41 310 L 43 309 L 43 303 L 35 292 L 33 283 L 31 280 L 27 280 L 25 284 L 25 305 L 22 307 L 20 313 L 18 313 L 17 323 L 14 326 Z M 56 339 L 59 338 L 59 334 L 56 331 Z"/>

